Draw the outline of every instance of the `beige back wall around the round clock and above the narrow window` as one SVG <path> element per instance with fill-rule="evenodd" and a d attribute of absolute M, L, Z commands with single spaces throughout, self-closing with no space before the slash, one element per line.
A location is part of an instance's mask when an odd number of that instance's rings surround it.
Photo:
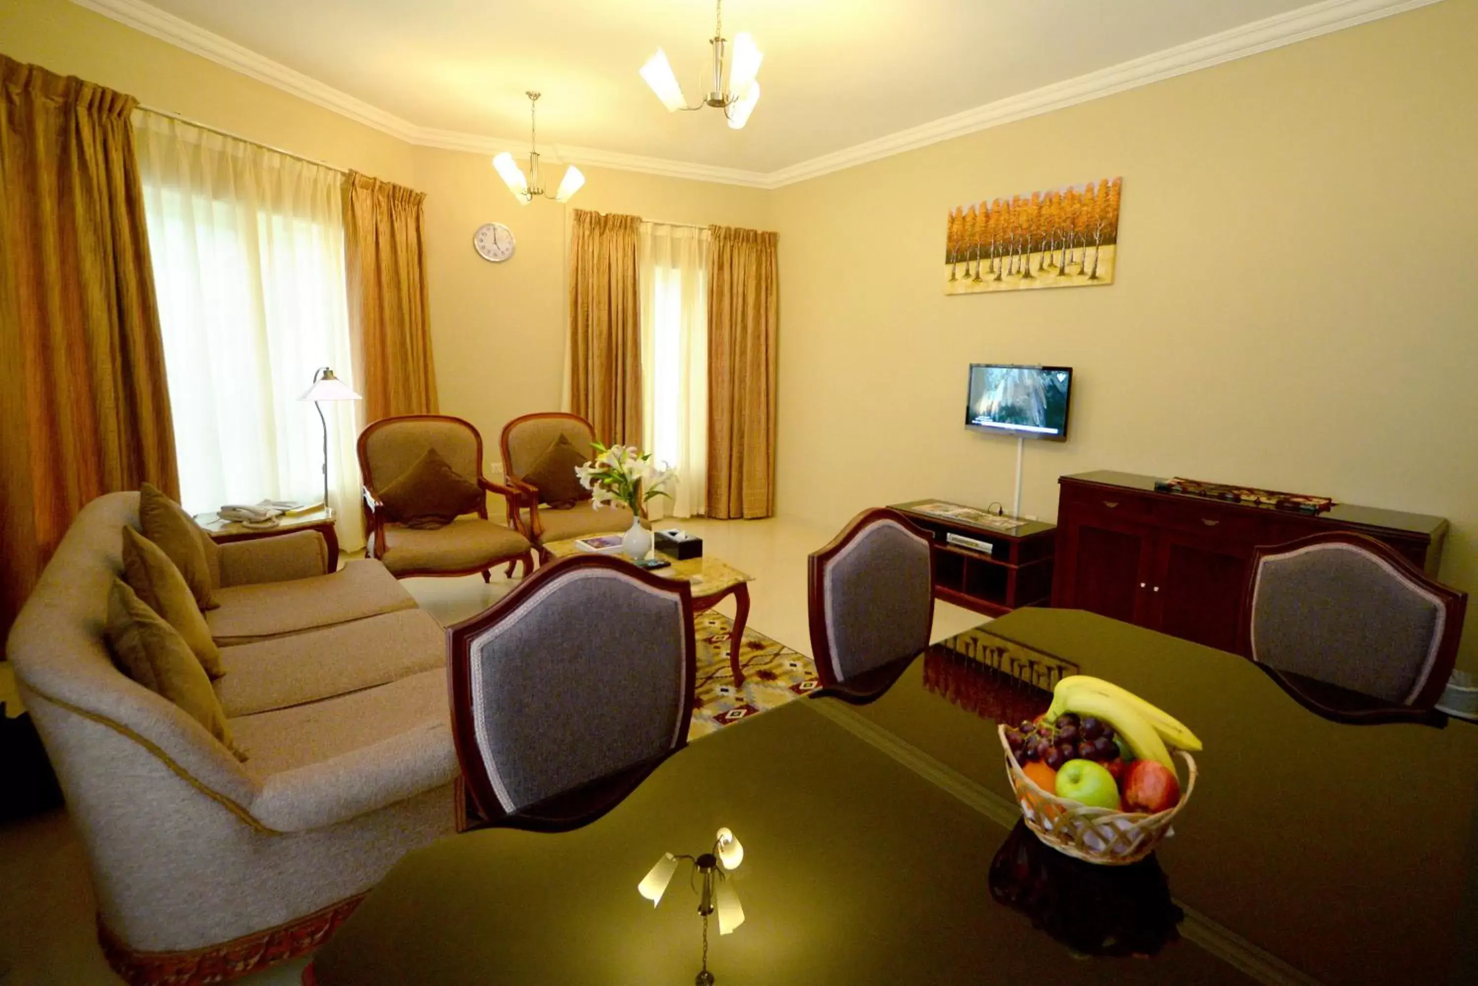
<path fill-rule="evenodd" d="M 510 418 L 557 411 L 565 368 L 566 260 L 571 207 L 631 213 L 675 223 L 766 226 L 769 192 L 582 167 L 585 188 L 569 207 L 520 205 L 488 155 L 417 148 L 415 182 L 426 197 L 432 336 L 442 411 L 483 433 L 489 463 Z M 559 183 L 563 166 L 547 169 Z M 473 250 L 477 226 L 501 222 L 513 257 L 488 263 Z"/>

